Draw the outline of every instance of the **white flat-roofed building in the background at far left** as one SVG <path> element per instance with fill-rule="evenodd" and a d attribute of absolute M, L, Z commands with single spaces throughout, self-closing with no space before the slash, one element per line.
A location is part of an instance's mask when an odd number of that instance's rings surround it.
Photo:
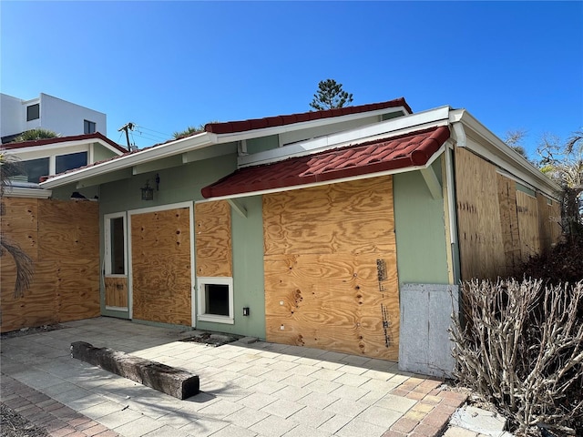
<path fill-rule="evenodd" d="M 43 128 L 61 137 L 99 132 L 107 136 L 107 116 L 41 93 L 31 100 L 0 94 L 0 137 L 11 141 L 26 130 Z"/>

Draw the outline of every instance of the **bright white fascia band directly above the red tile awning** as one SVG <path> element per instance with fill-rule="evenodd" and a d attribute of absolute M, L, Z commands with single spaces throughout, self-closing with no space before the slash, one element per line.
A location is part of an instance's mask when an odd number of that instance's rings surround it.
<path fill-rule="evenodd" d="M 287 158 L 302 157 L 337 147 L 349 146 L 386 137 L 387 134 L 405 135 L 429 127 L 445 126 L 449 122 L 449 107 L 437 107 L 410 116 L 391 118 L 373 125 L 308 139 L 298 143 L 238 158 L 240 168 L 269 164 Z"/>

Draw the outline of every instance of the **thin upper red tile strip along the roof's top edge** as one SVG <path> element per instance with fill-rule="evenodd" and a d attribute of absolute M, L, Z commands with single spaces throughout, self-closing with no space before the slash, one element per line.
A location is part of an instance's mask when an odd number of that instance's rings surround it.
<path fill-rule="evenodd" d="M 265 118 L 252 118 L 242 121 L 227 121 L 224 123 L 208 123 L 204 130 L 213 134 L 232 134 L 236 132 L 245 132 L 247 130 L 261 129 L 264 127 L 277 127 L 292 125 L 302 121 L 317 120 L 319 118 L 341 117 L 350 114 L 360 114 L 362 112 L 376 111 L 387 109 L 389 107 L 404 107 L 409 114 L 413 111 L 404 101 L 404 97 L 395 98 L 388 102 L 372 103 L 369 105 L 360 105 L 357 107 L 340 107 L 337 109 L 327 109 L 324 111 L 302 112 L 300 114 L 291 114 L 289 116 L 276 116 Z"/>

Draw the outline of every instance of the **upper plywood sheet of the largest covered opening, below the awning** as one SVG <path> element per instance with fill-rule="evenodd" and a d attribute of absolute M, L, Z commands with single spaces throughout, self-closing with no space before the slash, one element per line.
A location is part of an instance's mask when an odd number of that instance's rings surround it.
<path fill-rule="evenodd" d="M 393 250 L 393 179 L 265 195 L 263 223 L 265 255 Z"/>

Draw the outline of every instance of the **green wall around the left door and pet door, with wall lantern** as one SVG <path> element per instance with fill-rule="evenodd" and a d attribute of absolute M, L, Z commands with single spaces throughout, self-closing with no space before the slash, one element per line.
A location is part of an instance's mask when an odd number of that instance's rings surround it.
<path fill-rule="evenodd" d="M 229 155 L 204 159 L 184 166 L 161 169 L 104 184 L 99 190 L 100 235 L 103 236 L 104 214 L 202 200 L 201 188 L 230 174 L 235 168 L 236 157 Z M 141 200 L 140 188 L 146 184 L 147 180 L 150 187 L 156 188 L 156 173 L 159 174 L 160 178 L 159 191 L 154 191 L 154 200 Z M 234 209 L 231 210 L 235 323 L 230 325 L 196 321 L 196 327 L 200 330 L 230 332 L 264 339 L 265 303 L 261 197 L 241 198 L 238 202 L 247 209 L 247 217 L 243 218 Z M 103 259 L 104 250 L 102 239 L 101 259 Z M 244 317 L 242 315 L 243 307 L 251 308 L 250 316 Z M 128 312 L 106 310 L 103 299 L 101 312 L 112 317 L 129 317 Z"/>

